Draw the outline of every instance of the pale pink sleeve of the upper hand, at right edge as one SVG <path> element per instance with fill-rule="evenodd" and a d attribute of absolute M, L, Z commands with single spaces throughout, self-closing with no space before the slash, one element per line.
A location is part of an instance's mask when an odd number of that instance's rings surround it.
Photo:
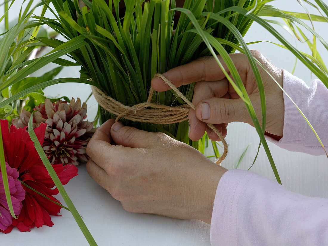
<path fill-rule="evenodd" d="M 308 87 L 301 79 L 286 70 L 282 71 L 284 90 L 312 124 L 325 148 L 328 147 L 328 89 L 320 80 L 314 80 L 311 87 Z M 311 155 L 325 154 L 310 126 L 285 94 L 284 104 L 282 138 L 280 141 L 268 136 L 266 138 L 281 148 L 290 151 L 304 152 Z"/>

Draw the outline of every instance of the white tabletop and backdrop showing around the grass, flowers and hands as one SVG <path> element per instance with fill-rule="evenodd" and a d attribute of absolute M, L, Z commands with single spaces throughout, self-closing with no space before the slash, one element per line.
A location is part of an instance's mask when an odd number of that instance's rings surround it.
<path fill-rule="evenodd" d="M 324 0 L 328 4 L 327 0 Z M 276 0 L 272 5 L 279 9 L 304 12 L 296 0 Z M 14 7 L 17 10 L 20 5 Z M 311 8 L 309 8 L 313 11 Z M 14 11 L 13 11 L 14 13 Z M 316 13 L 317 12 L 314 12 Z M 327 40 L 327 23 L 315 23 L 316 31 Z M 300 50 L 309 52 L 306 44 L 295 39 L 277 26 L 284 37 Z M 311 38 L 311 35 L 308 35 Z M 278 41 L 264 28 L 254 23 L 245 36 L 247 42 L 267 40 Z M 265 55 L 279 68 L 292 71 L 295 58 L 290 51 L 270 43 L 258 43 L 250 46 Z M 318 47 L 323 60 L 328 65 L 327 50 Z M 50 66 L 49 66 L 50 68 Z M 79 77 L 79 68 L 64 68 L 57 77 Z M 44 72 L 44 70 L 42 71 Z M 40 73 L 39 73 L 40 74 Z M 308 85 L 315 76 L 299 61 L 294 75 L 303 79 Z M 65 95 L 80 97 L 85 101 L 91 89 L 88 85 L 60 84 L 48 87 L 46 94 L 51 96 Z M 88 119 L 93 120 L 97 111 L 94 98 L 88 101 Z M 256 155 L 259 138 L 255 129 L 245 123 L 230 123 L 226 141 L 229 144 L 229 156 L 222 163 L 228 169 L 234 168 L 242 152 L 249 145 L 241 162 L 240 169 L 248 169 Z M 288 189 L 307 196 L 328 198 L 328 160 L 325 156 L 289 152 L 272 143 L 268 143 L 282 184 Z M 261 148 L 256 163 L 251 171 L 275 180 L 266 154 Z M 85 167 L 79 167 L 79 176 L 73 178 L 66 186 L 78 211 L 84 218 L 98 245 L 210 245 L 209 225 L 196 220 L 178 220 L 154 215 L 133 214 L 124 211 L 120 203 L 114 200 L 105 190 L 99 187 L 86 173 Z M 62 199 L 58 196 L 58 199 Z M 17 230 L 8 235 L 1 235 L 0 245 L 87 245 L 69 212 L 62 210 L 63 216 L 52 217 L 54 226 L 34 228 L 30 233 L 19 233 Z M 3 242 L 6 242 L 3 244 Z"/>

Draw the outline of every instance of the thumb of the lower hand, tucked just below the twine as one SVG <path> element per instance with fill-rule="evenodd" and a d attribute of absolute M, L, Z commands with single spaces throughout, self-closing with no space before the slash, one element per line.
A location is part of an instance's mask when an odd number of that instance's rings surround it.
<path fill-rule="evenodd" d="M 134 127 L 124 126 L 121 122 L 112 125 L 111 136 L 117 145 L 132 148 L 149 147 L 151 133 L 139 130 Z"/>

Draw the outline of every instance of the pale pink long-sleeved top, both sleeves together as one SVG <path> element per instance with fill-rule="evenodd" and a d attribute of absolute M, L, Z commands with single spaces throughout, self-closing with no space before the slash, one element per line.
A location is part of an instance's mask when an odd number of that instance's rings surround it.
<path fill-rule="evenodd" d="M 283 88 L 328 147 L 328 90 L 319 80 L 308 87 L 283 70 Z M 325 154 L 317 137 L 284 95 L 280 141 L 290 151 Z M 327 148 L 328 149 L 328 148 Z M 245 170 L 229 170 L 219 181 L 211 221 L 212 245 L 328 245 L 328 199 L 306 197 Z"/>

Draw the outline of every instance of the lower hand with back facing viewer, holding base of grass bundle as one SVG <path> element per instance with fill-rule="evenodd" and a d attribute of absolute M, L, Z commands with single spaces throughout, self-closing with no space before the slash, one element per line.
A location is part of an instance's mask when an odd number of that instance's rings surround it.
<path fill-rule="evenodd" d="M 216 187 L 227 170 L 193 147 L 108 120 L 87 154 L 89 175 L 125 210 L 211 223 Z"/>

